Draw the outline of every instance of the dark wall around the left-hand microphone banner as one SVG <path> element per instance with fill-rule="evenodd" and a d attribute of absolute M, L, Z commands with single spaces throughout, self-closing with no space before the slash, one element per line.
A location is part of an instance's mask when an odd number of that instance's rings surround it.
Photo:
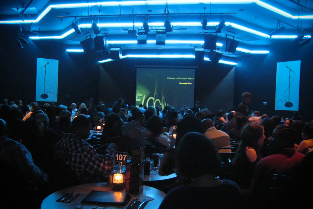
<path fill-rule="evenodd" d="M 58 103 L 70 105 L 99 95 L 98 58 L 92 54 L 68 54 L 58 40 L 28 40 L 18 49 L 18 26 L 1 25 L 0 98 L 33 102 L 36 94 L 37 57 L 59 60 Z M 69 95 L 69 97 L 65 97 Z"/>

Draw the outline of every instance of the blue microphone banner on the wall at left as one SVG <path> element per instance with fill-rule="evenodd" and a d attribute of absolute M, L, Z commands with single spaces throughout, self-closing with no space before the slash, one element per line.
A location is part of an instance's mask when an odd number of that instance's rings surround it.
<path fill-rule="evenodd" d="M 59 60 L 37 58 L 36 101 L 58 101 Z"/>

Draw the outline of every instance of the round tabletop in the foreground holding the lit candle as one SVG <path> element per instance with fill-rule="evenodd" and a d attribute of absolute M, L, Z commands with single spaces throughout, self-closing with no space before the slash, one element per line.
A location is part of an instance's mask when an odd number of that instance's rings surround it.
<path fill-rule="evenodd" d="M 54 209 L 54 208 L 60 208 L 60 209 L 74 209 L 75 206 L 80 206 L 80 202 L 86 195 L 90 193 L 90 191 L 112 191 L 111 188 L 106 187 L 106 183 L 92 183 L 92 184 L 83 184 L 83 185 L 76 185 L 72 187 L 68 187 L 65 189 L 62 189 L 60 191 L 56 191 L 52 193 L 51 195 L 47 196 L 44 201 L 41 203 L 41 209 Z M 64 196 L 67 193 L 81 193 L 80 196 L 78 196 L 76 199 L 69 203 L 63 203 L 63 202 L 56 202 L 57 199 Z M 153 198 L 154 200 L 148 202 L 145 209 L 156 209 L 160 206 L 161 202 L 163 201 L 166 194 L 156 188 L 150 187 L 150 186 L 143 186 L 143 191 L 140 193 L 140 196 L 148 196 Z M 134 200 L 136 196 L 132 196 L 131 201 Z M 141 200 L 141 198 L 139 198 Z M 142 200 L 141 200 L 142 201 Z M 88 205 L 88 204 L 84 204 Z M 104 206 L 104 205 L 99 205 Z M 84 207 L 85 208 L 85 207 Z M 107 209 L 125 209 L 126 206 L 110 206 L 107 205 Z"/>

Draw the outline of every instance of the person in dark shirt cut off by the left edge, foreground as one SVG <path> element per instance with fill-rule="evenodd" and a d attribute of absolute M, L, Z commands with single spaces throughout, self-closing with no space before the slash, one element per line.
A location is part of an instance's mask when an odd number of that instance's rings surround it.
<path fill-rule="evenodd" d="M 30 152 L 7 134 L 7 125 L 0 119 L 1 208 L 39 208 L 48 195 L 48 176 L 34 164 Z"/>

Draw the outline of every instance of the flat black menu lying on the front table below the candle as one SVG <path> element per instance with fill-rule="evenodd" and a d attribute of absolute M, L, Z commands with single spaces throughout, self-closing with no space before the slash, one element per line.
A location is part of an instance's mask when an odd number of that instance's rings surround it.
<path fill-rule="evenodd" d="M 80 201 L 82 204 L 126 205 L 126 192 L 91 191 Z"/>

